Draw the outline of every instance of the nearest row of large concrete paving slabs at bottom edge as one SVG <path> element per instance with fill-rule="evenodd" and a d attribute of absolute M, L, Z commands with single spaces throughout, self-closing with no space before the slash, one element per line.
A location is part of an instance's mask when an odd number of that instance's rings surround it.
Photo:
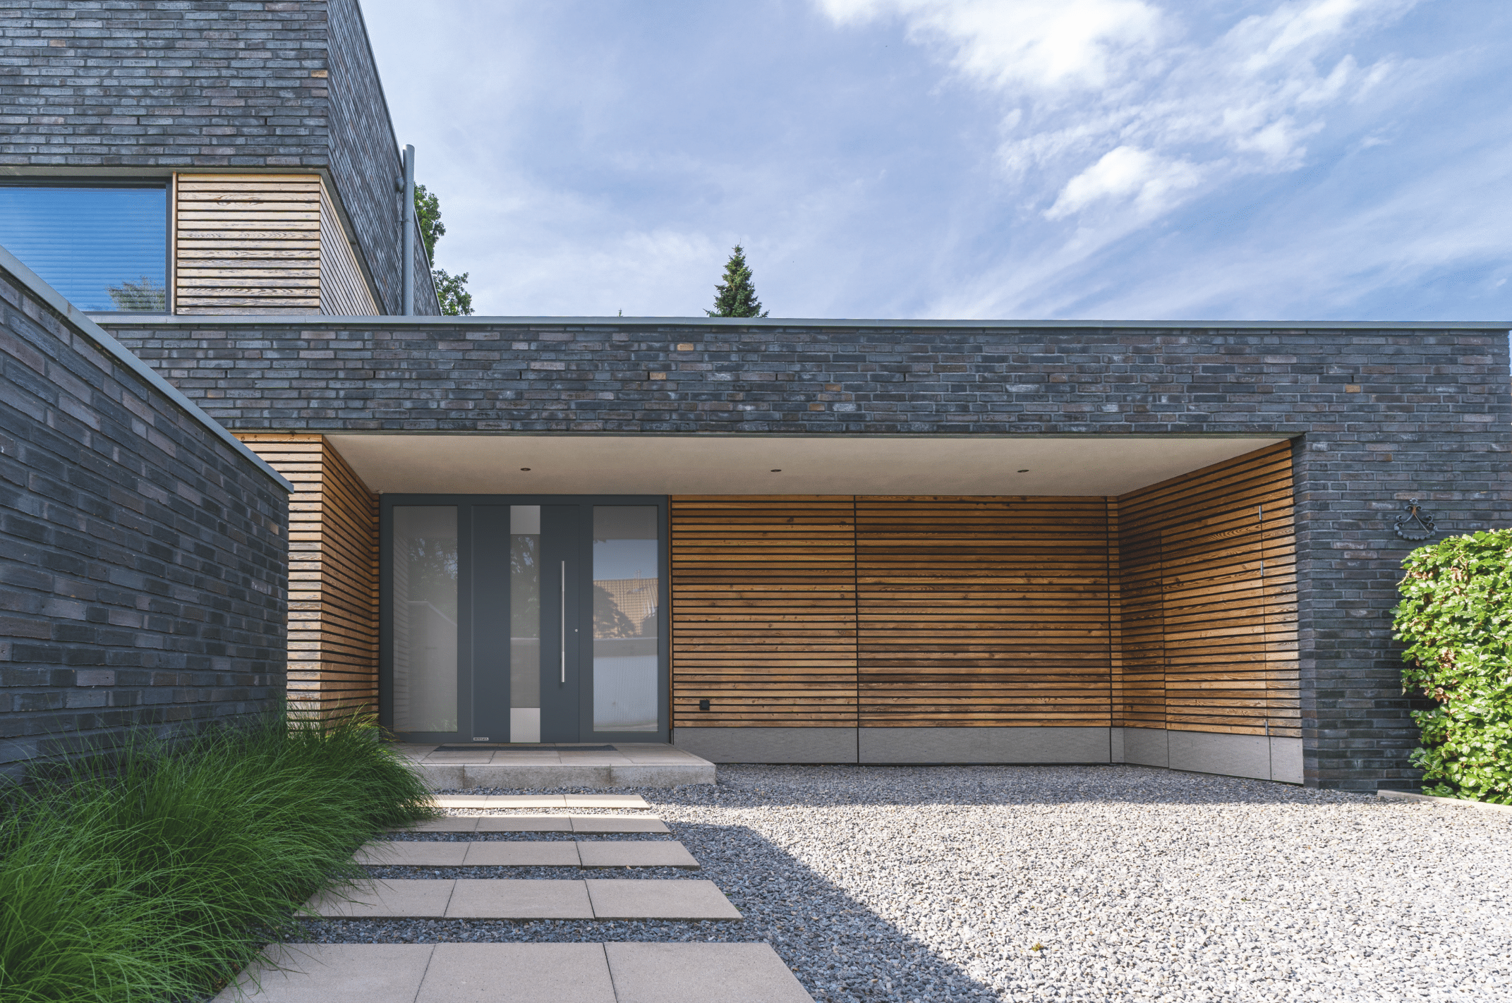
<path fill-rule="evenodd" d="M 237 1000 L 813 1003 L 767 944 L 289 944 L 215 997 Z"/>

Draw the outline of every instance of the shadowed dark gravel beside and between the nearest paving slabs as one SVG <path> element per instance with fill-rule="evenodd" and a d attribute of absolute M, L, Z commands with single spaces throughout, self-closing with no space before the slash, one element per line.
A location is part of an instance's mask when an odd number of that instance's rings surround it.
<path fill-rule="evenodd" d="M 738 921 L 491 921 L 336 920 L 307 924 L 321 943 L 496 941 L 765 941 L 824 1003 L 947 1003 L 995 1000 L 989 988 L 912 935 L 875 915 L 786 850 L 742 825 L 671 822 L 673 838 L 700 870 L 564 867 L 373 867 L 375 878 L 609 878 L 708 879 Z M 503 834 L 532 835 L 532 834 Z M 662 837 L 665 838 L 665 837 Z"/>

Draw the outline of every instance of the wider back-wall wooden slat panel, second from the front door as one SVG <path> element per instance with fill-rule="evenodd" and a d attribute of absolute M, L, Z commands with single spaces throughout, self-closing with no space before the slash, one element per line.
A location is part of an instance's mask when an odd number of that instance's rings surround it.
<path fill-rule="evenodd" d="M 859 497 L 860 724 L 1107 725 L 1108 506 Z"/>

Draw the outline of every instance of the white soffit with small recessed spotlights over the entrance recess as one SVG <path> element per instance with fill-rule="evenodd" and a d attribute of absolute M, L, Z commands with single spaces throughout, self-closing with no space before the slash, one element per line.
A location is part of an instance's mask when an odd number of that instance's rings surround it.
<path fill-rule="evenodd" d="M 1175 435 L 327 438 L 370 489 L 387 494 L 1108 495 L 1284 441 Z"/>

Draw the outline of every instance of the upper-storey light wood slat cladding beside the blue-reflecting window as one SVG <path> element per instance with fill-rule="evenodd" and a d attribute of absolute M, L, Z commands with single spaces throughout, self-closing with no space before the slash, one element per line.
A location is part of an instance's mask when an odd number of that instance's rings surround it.
<path fill-rule="evenodd" d="M 318 174 L 174 177 L 174 313 L 373 316 Z"/>

